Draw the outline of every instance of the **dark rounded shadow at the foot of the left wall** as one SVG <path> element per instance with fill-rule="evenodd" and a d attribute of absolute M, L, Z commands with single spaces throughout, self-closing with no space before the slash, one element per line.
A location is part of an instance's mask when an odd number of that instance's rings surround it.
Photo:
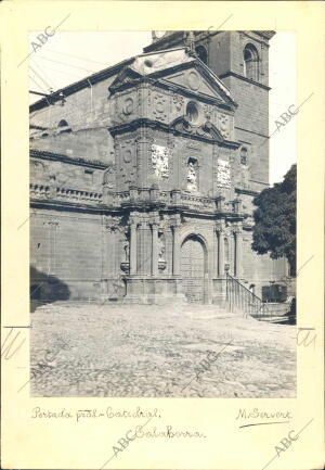
<path fill-rule="evenodd" d="M 67 284 L 55 276 L 47 275 L 30 266 L 30 312 L 37 307 L 56 301 L 67 301 L 70 291 Z"/>

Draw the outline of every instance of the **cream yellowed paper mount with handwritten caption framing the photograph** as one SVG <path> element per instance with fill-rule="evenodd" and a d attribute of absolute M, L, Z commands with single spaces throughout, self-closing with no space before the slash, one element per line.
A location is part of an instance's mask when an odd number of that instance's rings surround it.
<path fill-rule="evenodd" d="M 322 2 L 2 2 L 2 468 L 321 469 L 324 466 L 324 25 Z M 31 397 L 29 393 L 29 33 L 295 31 L 298 162 L 296 398 Z M 50 40 L 49 40 L 50 45 Z M 44 45 L 47 48 L 49 45 Z M 20 66 L 18 66 L 20 65 Z M 281 61 L 278 62 L 281 67 Z M 285 112 L 286 109 L 283 110 Z M 274 122 L 270 120 L 270 132 Z M 24 230 L 17 228 L 27 220 Z M 24 327 L 11 329 L 11 327 Z M 310 329 L 303 341 L 299 328 Z M 309 331 L 309 330 L 304 330 Z M 301 335 L 302 334 L 302 335 Z M 311 341 L 312 340 L 312 341 Z M 235 341 L 235 338 L 234 338 Z M 139 407 L 143 415 L 139 416 Z M 138 411 L 136 411 L 138 409 Z M 92 410 L 80 411 L 80 410 Z M 95 410 L 95 411 L 94 411 Z M 127 417 L 112 417 L 126 410 Z M 281 425 L 260 414 L 274 414 Z M 128 415 L 132 416 L 128 416 Z M 251 419 L 245 418 L 251 414 Z M 277 414 L 277 415 L 276 415 Z M 150 420 L 150 421 L 148 421 Z M 147 422 L 148 421 L 148 422 Z M 139 425 L 192 437 L 144 436 Z M 282 450 L 278 450 L 281 448 Z"/>

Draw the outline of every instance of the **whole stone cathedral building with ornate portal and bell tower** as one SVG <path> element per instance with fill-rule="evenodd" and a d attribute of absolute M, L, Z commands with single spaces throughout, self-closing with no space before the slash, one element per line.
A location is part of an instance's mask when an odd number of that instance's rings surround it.
<path fill-rule="evenodd" d="M 30 106 L 31 295 L 222 305 L 286 274 L 251 251 L 273 31 L 154 31 Z M 37 292 L 37 294 L 32 294 Z"/>

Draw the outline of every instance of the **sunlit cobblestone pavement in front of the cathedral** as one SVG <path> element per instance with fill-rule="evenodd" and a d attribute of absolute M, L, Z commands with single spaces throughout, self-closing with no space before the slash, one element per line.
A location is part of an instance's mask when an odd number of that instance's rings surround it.
<path fill-rule="evenodd" d="M 52 304 L 31 322 L 34 396 L 296 396 L 295 326 L 203 305 Z"/>

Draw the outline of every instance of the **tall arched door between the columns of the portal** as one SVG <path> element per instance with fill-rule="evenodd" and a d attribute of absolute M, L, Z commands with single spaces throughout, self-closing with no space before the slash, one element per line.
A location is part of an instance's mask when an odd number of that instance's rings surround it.
<path fill-rule="evenodd" d="M 198 237 L 190 236 L 181 246 L 183 292 L 190 303 L 205 302 L 206 254 Z"/>

